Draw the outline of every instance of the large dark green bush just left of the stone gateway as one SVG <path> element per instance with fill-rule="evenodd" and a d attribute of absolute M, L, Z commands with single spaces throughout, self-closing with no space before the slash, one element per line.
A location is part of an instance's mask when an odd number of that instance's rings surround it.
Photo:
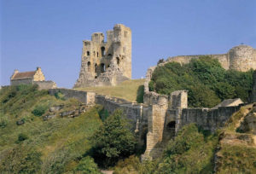
<path fill-rule="evenodd" d="M 135 152 L 136 140 L 123 112 L 116 110 L 90 137 L 93 157 L 98 165 L 114 165 Z"/>

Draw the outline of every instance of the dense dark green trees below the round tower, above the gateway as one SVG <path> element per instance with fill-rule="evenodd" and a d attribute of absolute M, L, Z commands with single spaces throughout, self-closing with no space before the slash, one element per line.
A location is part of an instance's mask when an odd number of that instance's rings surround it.
<path fill-rule="evenodd" d="M 156 67 L 148 86 L 149 90 L 165 95 L 188 90 L 189 107 L 214 107 L 230 98 L 247 102 L 253 89 L 253 70 L 226 71 L 218 60 L 201 56 L 183 66 L 170 62 Z"/>

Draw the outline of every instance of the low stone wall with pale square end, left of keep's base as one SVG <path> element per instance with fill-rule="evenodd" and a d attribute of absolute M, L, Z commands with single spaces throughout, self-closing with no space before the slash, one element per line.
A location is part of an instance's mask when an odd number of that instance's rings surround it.
<path fill-rule="evenodd" d="M 84 104 L 95 104 L 95 92 L 87 92 L 82 90 L 69 90 L 64 88 L 49 89 L 49 95 L 54 96 L 55 93 L 61 92 L 64 98 L 75 98 Z"/>

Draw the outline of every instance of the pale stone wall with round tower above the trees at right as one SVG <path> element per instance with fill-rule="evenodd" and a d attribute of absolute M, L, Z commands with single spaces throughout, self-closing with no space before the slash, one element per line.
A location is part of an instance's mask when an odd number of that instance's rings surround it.
<path fill-rule="evenodd" d="M 178 62 L 180 64 L 187 64 L 192 59 L 199 59 L 200 56 L 205 55 L 178 55 L 169 57 L 164 63 Z M 256 49 L 247 45 L 238 45 L 233 47 L 226 54 L 221 55 L 207 55 L 214 59 L 218 59 L 224 69 L 233 69 L 241 72 L 246 72 L 249 69 L 256 69 Z"/>

